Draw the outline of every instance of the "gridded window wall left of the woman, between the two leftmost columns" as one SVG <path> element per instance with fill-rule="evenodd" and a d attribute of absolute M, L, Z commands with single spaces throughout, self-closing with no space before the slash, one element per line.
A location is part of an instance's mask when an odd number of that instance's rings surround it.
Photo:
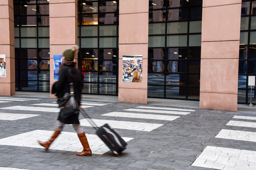
<path fill-rule="evenodd" d="M 15 89 L 50 91 L 49 2 L 14 0 Z"/>

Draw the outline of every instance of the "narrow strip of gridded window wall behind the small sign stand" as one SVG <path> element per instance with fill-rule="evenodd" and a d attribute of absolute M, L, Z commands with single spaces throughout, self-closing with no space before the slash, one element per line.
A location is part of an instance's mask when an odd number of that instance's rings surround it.
<path fill-rule="evenodd" d="M 256 76 L 256 1 L 243 0 L 241 9 L 238 103 L 250 103 L 251 86 L 248 76 Z M 256 104 L 256 88 L 253 86 L 252 103 Z"/>

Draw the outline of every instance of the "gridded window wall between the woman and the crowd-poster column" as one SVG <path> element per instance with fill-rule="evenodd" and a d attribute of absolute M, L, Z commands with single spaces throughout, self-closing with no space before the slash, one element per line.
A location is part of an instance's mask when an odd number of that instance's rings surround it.
<path fill-rule="evenodd" d="M 78 56 L 85 94 L 117 95 L 118 3 L 78 1 Z"/>

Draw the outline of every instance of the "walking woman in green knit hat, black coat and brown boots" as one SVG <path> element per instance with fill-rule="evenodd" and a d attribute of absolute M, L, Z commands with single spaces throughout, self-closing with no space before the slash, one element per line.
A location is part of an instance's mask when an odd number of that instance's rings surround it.
<path fill-rule="evenodd" d="M 59 68 L 59 80 L 54 83 L 52 86 L 51 93 L 56 93 L 58 98 L 61 98 L 66 92 L 70 92 L 70 82 L 73 81 L 74 86 L 74 94 L 77 103 L 80 106 L 81 93 L 82 93 L 82 81 L 81 81 L 81 71 L 75 68 L 76 63 L 73 61 L 75 57 L 75 53 L 79 50 L 78 46 L 74 46 L 72 49 L 68 49 L 63 53 L 63 63 Z M 69 76 L 69 69 L 71 70 L 71 77 Z M 61 113 L 60 109 L 60 113 Z M 47 142 L 38 141 L 39 144 L 47 150 L 50 144 L 56 139 L 56 137 L 60 134 L 64 124 L 72 124 L 74 129 L 76 130 L 78 137 L 84 147 L 84 150 L 80 153 L 77 153 L 78 156 L 92 156 L 92 151 L 88 144 L 85 132 L 83 128 L 80 126 L 80 122 L 78 120 L 79 112 L 72 114 L 68 117 L 61 117 L 59 113 L 57 119 L 57 127 L 54 131 L 54 134 Z"/>

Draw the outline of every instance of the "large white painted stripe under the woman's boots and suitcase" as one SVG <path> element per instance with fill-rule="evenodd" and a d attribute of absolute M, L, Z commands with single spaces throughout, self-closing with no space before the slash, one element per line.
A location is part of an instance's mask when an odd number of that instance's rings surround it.
<path fill-rule="evenodd" d="M 0 145 L 10 146 L 24 146 L 32 148 L 43 148 L 38 144 L 37 140 L 47 141 L 53 134 L 53 131 L 34 130 L 18 135 L 0 139 Z M 104 142 L 95 134 L 86 134 L 92 153 L 104 154 L 109 151 L 109 148 Z M 122 137 L 126 142 L 133 138 Z M 49 149 L 65 150 L 73 152 L 81 152 L 83 150 L 77 133 L 75 132 L 61 132 L 59 136 L 50 145 Z"/>

